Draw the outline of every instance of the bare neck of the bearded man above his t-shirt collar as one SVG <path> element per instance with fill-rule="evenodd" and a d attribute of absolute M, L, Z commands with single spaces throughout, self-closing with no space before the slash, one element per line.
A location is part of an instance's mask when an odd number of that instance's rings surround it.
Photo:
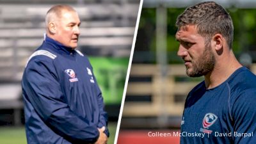
<path fill-rule="evenodd" d="M 211 72 L 204 76 L 205 87 L 215 88 L 228 79 L 242 65 L 236 60 L 234 53 L 230 51 L 221 60 L 216 60 L 216 64 Z"/>

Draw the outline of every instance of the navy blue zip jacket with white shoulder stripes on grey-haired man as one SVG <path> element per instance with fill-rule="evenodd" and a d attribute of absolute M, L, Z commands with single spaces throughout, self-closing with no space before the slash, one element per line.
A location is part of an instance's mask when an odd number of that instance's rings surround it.
<path fill-rule="evenodd" d="M 107 129 L 102 93 L 81 52 L 45 38 L 22 77 L 29 144 L 93 143 Z"/>

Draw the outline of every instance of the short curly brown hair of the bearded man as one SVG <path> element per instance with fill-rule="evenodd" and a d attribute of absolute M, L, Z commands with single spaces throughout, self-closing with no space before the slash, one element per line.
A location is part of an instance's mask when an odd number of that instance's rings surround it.
<path fill-rule="evenodd" d="M 207 1 L 189 6 L 176 20 L 177 28 L 193 24 L 197 26 L 200 35 L 205 36 L 207 42 L 216 33 L 220 33 L 232 49 L 234 26 L 228 12 L 214 1 Z"/>

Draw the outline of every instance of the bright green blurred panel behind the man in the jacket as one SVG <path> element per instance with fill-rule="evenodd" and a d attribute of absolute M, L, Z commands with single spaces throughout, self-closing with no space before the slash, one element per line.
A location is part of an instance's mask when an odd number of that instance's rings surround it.
<path fill-rule="evenodd" d="M 120 104 L 129 58 L 90 56 L 105 104 Z"/>

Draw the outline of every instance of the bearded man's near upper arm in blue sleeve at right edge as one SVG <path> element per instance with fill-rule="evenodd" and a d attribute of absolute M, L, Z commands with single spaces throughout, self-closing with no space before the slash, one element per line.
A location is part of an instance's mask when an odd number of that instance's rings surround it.
<path fill-rule="evenodd" d="M 234 102 L 232 117 L 235 143 L 256 143 L 256 88 L 246 90 Z M 243 134 L 243 136 L 242 136 Z"/>

